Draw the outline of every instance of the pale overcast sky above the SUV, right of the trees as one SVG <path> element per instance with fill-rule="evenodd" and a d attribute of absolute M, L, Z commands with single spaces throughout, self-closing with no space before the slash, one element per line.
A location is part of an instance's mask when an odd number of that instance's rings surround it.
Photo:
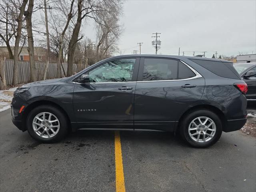
<path fill-rule="evenodd" d="M 127 0 L 124 3 L 124 33 L 119 41 L 122 54 L 138 50 L 154 54 L 153 32 L 160 32 L 159 54 L 238 55 L 256 53 L 256 1 Z"/>

